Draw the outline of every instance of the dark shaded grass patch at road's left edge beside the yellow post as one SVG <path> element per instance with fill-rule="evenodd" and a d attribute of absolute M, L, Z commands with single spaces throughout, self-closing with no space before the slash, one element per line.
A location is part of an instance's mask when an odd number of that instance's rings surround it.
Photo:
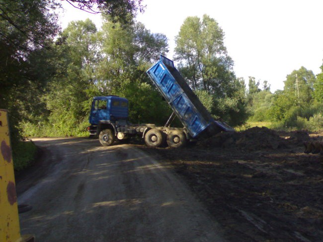
<path fill-rule="evenodd" d="M 19 141 L 12 144 L 13 167 L 15 171 L 21 171 L 29 167 L 35 160 L 37 147 L 30 140 Z"/>

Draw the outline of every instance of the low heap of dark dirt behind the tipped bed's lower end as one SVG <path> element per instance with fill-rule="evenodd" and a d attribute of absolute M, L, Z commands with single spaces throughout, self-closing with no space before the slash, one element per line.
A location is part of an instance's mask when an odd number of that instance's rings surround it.
<path fill-rule="evenodd" d="M 252 127 L 242 132 L 221 132 L 198 142 L 199 146 L 214 148 L 238 148 L 249 151 L 287 148 L 289 144 L 309 139 L 307 132 L 299 131 L 284 136 L 267 127 Z"/>

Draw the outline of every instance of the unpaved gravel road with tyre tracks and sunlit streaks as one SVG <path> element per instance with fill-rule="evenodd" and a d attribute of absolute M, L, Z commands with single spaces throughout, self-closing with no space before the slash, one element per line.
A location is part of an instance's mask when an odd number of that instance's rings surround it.
<path fill-rule="evenodd" d="M 21 233 L 37 242 L 221 242 L 219 226 L 166 163 L 129 145 L 33 139 L 42 156 L 18 176 Z"/>

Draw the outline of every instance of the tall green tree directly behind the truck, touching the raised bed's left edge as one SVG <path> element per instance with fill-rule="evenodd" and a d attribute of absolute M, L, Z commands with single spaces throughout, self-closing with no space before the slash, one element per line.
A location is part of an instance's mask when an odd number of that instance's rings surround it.
<path fill-rule="evenodd" d="M 165 35 L 151 33 L 135 21 L 127 26 L 106 21 L 99 39 L 104 59 L 99 63 L 97 86 L 102 95 L 128 98 L 134 122 L 160 123 L 169 108 L 161 102 L 146 70 L 160 54 L 168 52 Z"/>

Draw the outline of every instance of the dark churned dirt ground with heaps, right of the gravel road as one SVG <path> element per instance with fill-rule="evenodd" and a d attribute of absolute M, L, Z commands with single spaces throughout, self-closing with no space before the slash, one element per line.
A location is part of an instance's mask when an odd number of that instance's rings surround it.
<path fill-rule="evenodd" d="M 136 145 L 171 163 L 219 222 L 228 241 L 323 241 L 323 155 L 304 141 L 323 132 L 254 127 L 185 148 Z"/>

